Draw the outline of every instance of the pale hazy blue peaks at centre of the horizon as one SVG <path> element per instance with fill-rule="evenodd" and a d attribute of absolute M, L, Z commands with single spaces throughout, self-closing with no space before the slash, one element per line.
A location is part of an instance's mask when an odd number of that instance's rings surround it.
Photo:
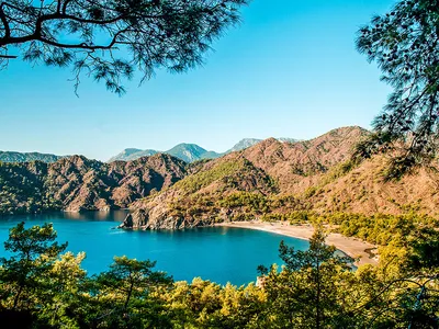
<path fill-rule="evenodd" d="M 285 143 L 295 143 L 299 141 L 299 139 L 294 138 L 278 138 L 279 141 L 285 141 Z M 119 155 L 112 157 L 108 162 L 113 162 L 113 161 L 133 161 L 137 160 L 142 157 L 149 157 L 156 154 L 166 154 L 170 155 L 172 157 L 179 158 L 188 163 L 198 161 L 198 160 L 203 160 L 203 159 L 216 159 L 221 158 L 222 156 L 228 155 L 234 151 L 240 151 L 243 149 L 249 148 L 258 143 L 261 143 L 262 139 L 256 139 L 256 138 L 245 138 L 240 140 L 238 144 L 236 144 L 233 148 L 229 150 L 219 154 L 216 151 L 209 151 L 201 146 L 196 144 L 179 144 L 175 147 L 172 147 L 169 150 L 166 151 L 158 151 L 154 149 L 137 149 L 137 148 L 126 148 Z"/>

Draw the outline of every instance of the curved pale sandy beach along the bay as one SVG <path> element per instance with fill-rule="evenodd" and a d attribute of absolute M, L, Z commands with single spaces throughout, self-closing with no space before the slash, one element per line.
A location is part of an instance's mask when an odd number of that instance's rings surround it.
<path fill-rule="evenodd" d="M 266 223 L 266 222 L 233 222 L 233 223 L 221 223 L 216 226 L 225 227 L 238 227 L 264 230 L 273 234 L 279 234 L 292 238 L 300 238 L 308 240 L 314 232 L 314 228 L 311 225 L 289 225 L 284 223 Z M 357 258 L 360 257 L 360 261 L 356 265 L 362 264 L 378 264 L 376 258 L 370 258 L 367 252 L 369 249 L 375 249 L 376 246 L 361 241 L 356 238 L 347 238 L 340 234 L 329 234 L 326 238 L 326 242 L 330 246 L 335 246 L 337 249 L 344 251 L 346 254 Z"/>

